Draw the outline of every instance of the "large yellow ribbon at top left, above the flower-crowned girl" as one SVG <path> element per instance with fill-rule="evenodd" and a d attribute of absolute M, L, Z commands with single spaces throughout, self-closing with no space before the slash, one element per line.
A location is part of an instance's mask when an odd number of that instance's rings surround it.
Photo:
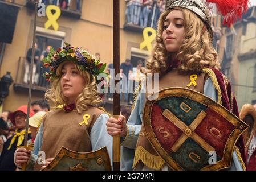
<path fill-rule="evenodd" d="M 55 13 L 52 14 L 51 10 L 55 10 Z M 60 9 L 58 6 L 55 5 L 49 5 L 46 8 L 46 16 L 48 18 L 48 21 L 44 23 L 44 28 L 48 29 L 50 26 L 54 27 L 54 30 L 57 31 L 59 29 L 59 24 L 57 23 L 57 19 L 60 16 Z"/>

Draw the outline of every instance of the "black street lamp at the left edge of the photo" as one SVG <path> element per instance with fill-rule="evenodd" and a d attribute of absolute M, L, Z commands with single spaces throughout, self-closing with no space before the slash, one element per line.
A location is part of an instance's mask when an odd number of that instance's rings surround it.
<path fill-rule="evenodd" d="M 9 87 L 13 83 L 10 74 L 10 72 L 7 72 L 0 80 L 0 105 L 2 105 L 3 99 L 9 95 Z"/>

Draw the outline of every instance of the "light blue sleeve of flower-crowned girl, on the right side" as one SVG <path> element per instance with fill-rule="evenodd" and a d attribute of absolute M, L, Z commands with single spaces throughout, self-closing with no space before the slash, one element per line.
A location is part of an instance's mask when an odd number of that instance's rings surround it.
<path fill-rule="evenodd" d="M 107 147 L 108 154 L 112 162 L 112 148 L 113 148 L 113 137 L 107 133 L 107 114 L 101 114 L 99 118 L 96 119 L 94 126 L 92 126 L 90 140 L 92 145 L 92 151 L 98 150 L 104 146 Z"/>

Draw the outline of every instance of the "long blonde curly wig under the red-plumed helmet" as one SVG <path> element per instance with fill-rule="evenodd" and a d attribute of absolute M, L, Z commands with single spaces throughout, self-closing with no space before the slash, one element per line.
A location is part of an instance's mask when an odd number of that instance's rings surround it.
<path fill-rule="evenodd" d="M 161 14 L 157 27 L 156 43 L 151 56 L 146 61 L 146 67 L 141 72 L 162 73 L 166 72 L 167 65 L 171 61 L 171 53 L 167 52 L 162 39 L 164 20 L 173 10 L 181 10 L 184 16 L 185 36 L 176 57 L 182 65 L 179 69 L 200 73 L 204 67 L 215 67 L 217 64 L 217 52 L 212 47 L 212 38 L 208 29 L 202 32 L 204 22 L 196 14 L 188 9 L 175 7 Z"/>

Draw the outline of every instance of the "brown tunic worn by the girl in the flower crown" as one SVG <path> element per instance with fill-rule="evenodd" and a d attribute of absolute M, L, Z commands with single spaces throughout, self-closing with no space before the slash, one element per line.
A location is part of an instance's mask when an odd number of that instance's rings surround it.
<path fill-rule="evenodd" d="M 89 114 L 88 125 L 83 122 L 84 114 Z M 50 111 L 43 118 L 43 133 L 41 151 L 46 154 L 46 159 L 54 158 L 62 147 L 77 152 L 92 151 L 90 142 L 90 132 L 96 119 L 104 114 L 103 110 L 97 107 L 88 107 L 87 110 L 78 113 L 73 110 L 66 112 L 63 109 Z M 35 170 L 40 170 L 41 166 L 35 163 Z"/>

